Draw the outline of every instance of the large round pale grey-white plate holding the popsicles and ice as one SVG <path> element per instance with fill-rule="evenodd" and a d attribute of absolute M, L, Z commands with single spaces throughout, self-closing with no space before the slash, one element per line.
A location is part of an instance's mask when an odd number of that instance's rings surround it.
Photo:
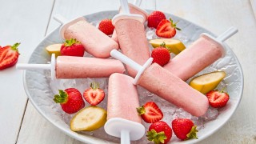
<path fill-rule="evenodd" d="M 86 15 L 86 19 L 88 22 L 93 21 L 100 21 L 103 18 L 113 18 L 115 14 L 118 14 L 117 11 L 103 11 L 96 14 L 90 14 Z M 197 26 L 191 22 L 188 22 L 182 18 L 178 18 L 171 14 L 166 14 L 166 18 L 173 18 L 174 21 L 179 20 L 178 27 L 182 28 L 181 32 L 178 32 L 177 38 L 181 39 L 186 46 L 190 44 L 190 42 L 194 42 L 196 39 L 198 39 L 199 34 L 206 32 L 209 34 L 210 31 L 203 29 L 200 26 Z M 46 63 L 50 62 L 50 55 L 47 54 L 45 47 L 54 44 L 62 42 L 62 38 L 60 37 L 58 33 L 59 27 L 54 30 L 52 33 L 46 36 L 40 42 L 40 44 L 35 48 L 33 54 L 30 56 L 29 63 Z M 213 34 L 214 35 L 214 34 Z M 230 101 L 228 104 L 218 110 L 218 118 L 205 122 L 203 124 L 203 128 L 201 128 L 198 132 L 198 139 L 193 139 L 186 141 L 187 143 L 195 143 L 199 142 L 204 138 L 209 137 L 211 134 L 216 132 L 218 129 L 220 129 L 231 117 L 232 114 L 234 114 L 234 111 L 237 109 L 238 104 L 242 98 L 242 90 L 243 90 L 243 76 L 242 76 L 242 68 L 238 62 L 238 58 L 236 58 L 235 54 L 232 50 L 230 50 L 230 47 L 226 45 L 226 57 L 219 59 L 217 62 L 214 62 L 213 65 L 208 66 L 205 70 L 202 70 L 199 74 L 204 74 L 206 72 L 214 71 L 214 70 L 224 70 L 226 71 L 226 78 L 222 82 L 227 85 L 227 90 L 230 94 Z M 70 135 L 73 138 L 78 139 L 79 141 L 86 142 L 86 143 L 108 143 L 108 142 L 118 142 L 118 138 L 110 137 L 107 134 L 104 133 L 104 130 L 101 128 L 100 130 L 96 130 L 93 133 L 92 132 L 82 132 L 82 133 L 75 133 L 70 130 L 69 126 L 69 119 L 71 116 L 67 116 L 62 112 L 60 109 L 60 106 L 58 104 L 55 104 L 53 101 L 54 94 L 56 94 L 56 91 L 52 89 L 52 87 L 56 87 L 56 90 L 62 89 L 63 87 L 58 87 L 58 85 L 51 86 L 50 78 L 47 78 L 47 72 L 45 70 L 26 70 L 24 72 L 24 87 L 26 90 L 26 94 L 28 95 L 28 98 L 30 98 L 30 102 L 34 105 L 34 107 L 38 110 L 40 114 L 44 118 L 46 118 L 49 122 L 54 124 L 54 126 L 58 127 L 58 129 L 62 130 L 64 133 Z M 97 80 L 97 79 L 94 79 Z M 65 85 L 65 81 L 64 85 Z M 74 80 L 76 82 L 76 85 L 82 82 L 87 82 L 87 84 L 91 81 L 90 78 L 87 80 Z M 71 80 L 71 85 L 72 85 Z M 107 83 L 107 78 L 104 80 L 101 80 L 101 82 Z M 68 87 L 66 87 L 68 88 Z M 78 88 L 80 91 L 82 91 L 82 87 Z M 152 96 L 152 95 L 151 95 Z M 155 97 L 155 96 L 153 96 Z M 153 98 L 151 97 L 151 98 Z M 146 97 L 149 98 L 149 97 Z M 155 99 L 155 98 L 153 98 Z M 106 98 L 105 98 L 106 100 Z M 159 100 L 162 101 L 162 100 Z M 86 105 L 88 106 L 88 104 Z M 101 104 L 100 106 L 106 108 L 106 104 Z M 168 117 L 169 113 L 165 117 Z M 172 115 L 170 115 L 172 117 Z M 170 122 L 167 122 L 170 124 Z M 148 126 L 148 125 L 147 125 Z M 174 143 L 182 143 L 178 140 L 173 134 L 173 138 L 171 139 Z M 138 141 L 134 143 L 144 143 L 144 141 Z"/>

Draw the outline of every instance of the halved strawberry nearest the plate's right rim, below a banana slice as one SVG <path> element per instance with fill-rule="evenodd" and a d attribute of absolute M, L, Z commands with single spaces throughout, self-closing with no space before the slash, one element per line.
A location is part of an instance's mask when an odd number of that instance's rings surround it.
<path fill-rule="evenodd" d="M 224 92 L 224 89 L 226 89 L 226 87 L 224 87 L 221 91 L 211 90 L 206 94 L 210 106 L 214 108 L 226 106 L 226 103 L 229 101 L 230 96 L 229 94 Z"/>

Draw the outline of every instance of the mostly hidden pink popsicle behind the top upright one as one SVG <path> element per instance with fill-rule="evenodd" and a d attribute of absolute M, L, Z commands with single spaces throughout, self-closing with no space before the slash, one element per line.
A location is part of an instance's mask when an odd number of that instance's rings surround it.
<path fill-rule="evenodd" d="M 141 8 L 139 8 L 138 6 L 140 6 L 141 4 L 141 0 L 135 0 L 134 4 L 129 3 L 129 10 L 130 10 L 130 14 L 140 14 L 142 15 L 142 17 L 144 18 L 143 23 L 145 23 L 147 21 L 147 18 L 149 16 L 149 14 L 146 12 L 146 10 L 143 10 Z M 120 8 L 119 13 L 122 13 L 122 9 Z M 115 42 L 118 42 L 118 34 L 116 33 L 116 30 L 114 30 L 112 37 L 111 37 Z"/>

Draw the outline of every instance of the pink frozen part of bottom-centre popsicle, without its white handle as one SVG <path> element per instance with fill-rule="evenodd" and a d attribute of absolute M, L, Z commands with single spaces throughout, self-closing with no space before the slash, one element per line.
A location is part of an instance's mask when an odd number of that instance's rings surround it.
<path fill-rule="evenodd" d="M 124 118 L 142 123 L 136 110 L 139 107 L 138 92 L 133 84 L 134 78 L 125 74 L 112 74 L 109 78 L 107 100 L 107 119 Z"/>

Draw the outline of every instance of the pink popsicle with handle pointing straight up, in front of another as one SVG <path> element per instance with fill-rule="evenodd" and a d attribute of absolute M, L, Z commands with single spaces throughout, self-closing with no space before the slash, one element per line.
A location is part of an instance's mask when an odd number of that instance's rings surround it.
<path fill-rule="evenodd" d="M 112 19 L 115 30 L 118 34 L 119 46 L 122 53 L 139 64 L 150 58 L 149 44 L 146 40 L 143 17 L 138 14 L 130 14 L 127 2 L 122 2 L 122 14 L 117 14 Z M 126 66 L 128 74 L 134 77 L 135 70 Z"/>

